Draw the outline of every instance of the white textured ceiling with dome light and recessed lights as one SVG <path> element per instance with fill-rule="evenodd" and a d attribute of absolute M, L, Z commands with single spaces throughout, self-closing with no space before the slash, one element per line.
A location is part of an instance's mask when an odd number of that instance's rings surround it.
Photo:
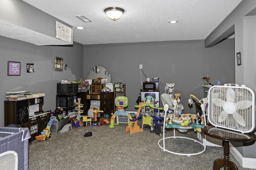
<path fill-rule="evenodd" d="M 23 1 L 73 26 L 73 41 L 90 45 L 206 39 L 242 0 Z M 117 21 L 104 14 L 111 6 L 125 10 Z M 85 23 L 78 15 L 92 22 Z"/>

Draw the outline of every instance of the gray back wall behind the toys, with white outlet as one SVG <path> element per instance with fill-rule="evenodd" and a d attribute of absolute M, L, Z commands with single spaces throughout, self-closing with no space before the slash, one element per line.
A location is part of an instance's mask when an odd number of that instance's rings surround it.
<path fill-rule="evenodd" d="M 181 94 L 184 113 L 195 113 L 188 107 L 189 94 L 204 97 L 203 77 L 210 83 L 234 83 L 234 39 L 227 39 L 212 48 L 204 48 L 204 40 L 163 41 L 84 45 L 84 78 L 94 66 L 102 65 L 111 74 L 112 82 L 126 83 L 129 99 L 126 111 L 134 105 L 142 89 L 139 64 L 148 78 L 159 77 L 160 94 L 164 84 L 174 82 L 174 93 Z M 146 78 L 142 73 L 142 81 Z M 162 103 L 160 102 L 161 106 Z"/>

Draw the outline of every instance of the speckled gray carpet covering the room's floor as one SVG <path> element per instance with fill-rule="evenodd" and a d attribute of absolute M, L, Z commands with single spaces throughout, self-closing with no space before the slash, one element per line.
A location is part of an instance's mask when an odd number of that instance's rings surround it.
<path fill-rule="evenodd" d="M 78 127 L 64 133 L 54 133 L 47 141 L 33 141 L 29 144 L 30 170 L 212 170 L 214 160 L 223 158 L 223 147 L 207 146 L 205 152 L 195 156 L 181 156 L 164 152 L 158 146 L 162 137 L 143 132 L 130 134 L 126 124 L 109 128 Z M 92 132 L 91 137 L 84 137 L 85 132 Z M 173 130 L 166 131 L 172 136 Z M 194 131 L 186 134 L 176 131 L 176 136 L 196 138 Z M 199 143 L 187 139 L 166 141 L 169 150 L 192 153 L 203 149 Z M 230 154 L 239 170 L 242 168 Z"/>

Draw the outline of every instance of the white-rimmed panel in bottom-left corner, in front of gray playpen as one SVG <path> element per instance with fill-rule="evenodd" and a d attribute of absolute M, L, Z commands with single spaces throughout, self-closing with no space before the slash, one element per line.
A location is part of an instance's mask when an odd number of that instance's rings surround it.
<path fill-rule="evenodd" d="M 18 154 L 13 150 L 0 154 L 1 170 L 18 170 Z"/>

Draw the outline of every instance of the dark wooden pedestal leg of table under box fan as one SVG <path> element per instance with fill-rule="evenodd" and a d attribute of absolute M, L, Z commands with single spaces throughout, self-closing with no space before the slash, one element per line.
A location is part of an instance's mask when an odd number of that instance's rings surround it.
<path fill-rule="evenodd" d="M 236 164 L 229 160 L 229 142 L 224 141 L 224 159 L 216 159 L 213 164 L 213 170 L 238 170 Z"/>

